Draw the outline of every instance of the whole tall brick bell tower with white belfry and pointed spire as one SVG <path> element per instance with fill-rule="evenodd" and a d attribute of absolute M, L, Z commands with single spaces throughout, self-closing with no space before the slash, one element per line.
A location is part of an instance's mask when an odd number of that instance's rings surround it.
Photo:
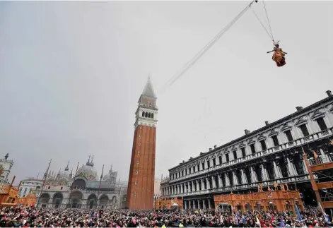
<path fill-rule="evenodd" d="M 153 209 L 158 111 L 156 99 L 153 85 L 148 77 L 135 112 L 136 121 L 126 202 L 129 209 Z"/>

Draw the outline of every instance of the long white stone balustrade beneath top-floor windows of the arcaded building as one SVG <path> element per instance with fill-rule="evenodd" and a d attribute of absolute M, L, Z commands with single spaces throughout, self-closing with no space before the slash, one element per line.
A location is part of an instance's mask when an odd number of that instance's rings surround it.
<path fill-rule="evenodd" d="M 216 169 L 222 169 L 222 168 L 230 167 L 230 166 L 233 166 L 234 164 L 238 164 L 240 162 L 247 162 L 247 161 L 250 161 L 250 160 L 255 160 L 255 159 L 257 159 L 259 157 L 262 157 L 262 156 L 275 154 L 277 152 L 281 152 L 281 150 L 286 150 L 288 148 L 294 148 L 294 147 L 298 147 L 300 145 L 308 144 L 310 141 L 317 140 L 317 139 L 320 139 L 320 138 L 325 138 L 325 137 L 327 137 L 329 135 L 332 135 L 332 134 L 333 134 L 333 128 L 329 128 L 325 131 L 320 131 L 320 132 L 317 132 L 317 133 L 313 133 L 310 136 L 306 136 L 306 137 L 303 137 L 303 138 L 298 138 L 298 139 L 293 140 L 291 142 L 283 143 L 281 145 L 274 146 L 272 148 L 268 148 L 267 150 L 262 150 L 262 151 L 259 151 L 259 152 L 255 152 L 253 154 L 246 155 L 245 157 L 240 157 L 236 160 L 231 160 L 229 162 L 224 162 L 222 164 L 216 164 L 215 167 L 210 167 L 209 169 L 200 170 L 199 172 L 194 172 L 192 174 L 187 174 L 186 176 L 181 176 L 181 177 L 178 177 L 176 179 L 170 179 L 169 183 L 172 184 L 172 183 L 175 183 L 177 181 L 182 181 L 184 179 L 189 179 L 189 178 L 194 177 L 194 176 L 199 176 L 201 174 L 214 171 Z"/>

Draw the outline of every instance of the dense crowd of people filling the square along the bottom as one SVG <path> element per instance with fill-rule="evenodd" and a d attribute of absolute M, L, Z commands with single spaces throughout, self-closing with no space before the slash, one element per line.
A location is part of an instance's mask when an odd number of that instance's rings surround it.
<path fill-rule="evenodd" d="M 84 210 L 2 208 L 0 227 L 331 227 L 321 210 Z M 332 218 L 331 218 L 332 219 Z"/>

